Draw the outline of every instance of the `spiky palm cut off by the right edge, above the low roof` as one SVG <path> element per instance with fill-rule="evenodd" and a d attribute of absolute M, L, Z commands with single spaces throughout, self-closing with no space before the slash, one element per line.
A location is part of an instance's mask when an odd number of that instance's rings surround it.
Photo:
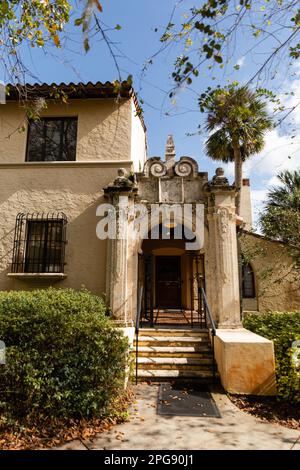
<path fill-rule="evenodd" d="M 282 171 L 267 195 L 260 226 L 265 235 L 300 248 L 300 170 Z"/>

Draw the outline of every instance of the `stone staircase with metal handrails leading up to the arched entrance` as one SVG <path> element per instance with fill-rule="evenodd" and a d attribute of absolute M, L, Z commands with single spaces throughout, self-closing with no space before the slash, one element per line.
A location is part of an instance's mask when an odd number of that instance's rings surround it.
<path fill-rule="evenodd" d="M 213 379 L 212 350 L 207 330 L 141 328 L 138 379 Z"/>

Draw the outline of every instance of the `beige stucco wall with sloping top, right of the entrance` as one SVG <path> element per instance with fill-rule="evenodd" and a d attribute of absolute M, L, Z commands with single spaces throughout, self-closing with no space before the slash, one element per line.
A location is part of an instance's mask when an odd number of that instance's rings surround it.
<path fill-rule="evenodd" d="M 241 245 L 254 271 L 258 310 L 299 310 L 300 275 L 293 269 L 290 248 L 251 234 L 241 237 Z"/>

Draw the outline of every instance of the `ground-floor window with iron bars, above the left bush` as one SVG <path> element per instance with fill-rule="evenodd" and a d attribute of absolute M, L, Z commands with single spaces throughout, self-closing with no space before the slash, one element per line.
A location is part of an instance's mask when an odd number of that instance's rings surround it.
<path fill-rule="evenodd" d="M 63 273 L 67 218 L 63 213 L 18 214 L 13 273 Z"/>

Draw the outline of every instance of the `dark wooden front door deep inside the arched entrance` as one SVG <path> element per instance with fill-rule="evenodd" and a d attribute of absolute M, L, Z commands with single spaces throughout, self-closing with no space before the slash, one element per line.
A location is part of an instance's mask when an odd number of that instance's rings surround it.
<path fill-rule="evenodd" d="M 181 258 L 156 257 L 156 306 L 181 308 Z"/>

